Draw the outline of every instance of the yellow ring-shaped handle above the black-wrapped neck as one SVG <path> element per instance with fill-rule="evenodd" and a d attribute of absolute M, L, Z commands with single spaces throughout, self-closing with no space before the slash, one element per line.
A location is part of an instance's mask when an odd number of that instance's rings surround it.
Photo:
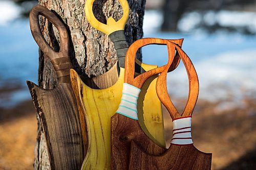
<path fill-rule="evenodd" d="M 98 21 L 93 14 L 93 3 L 95 0 L 87 0 L 84 10 L 86 12 L 86 17 L 90 24 L 97 30 L 110 35 L 111 33 L 124 30 L 125 23 L 129 17 L 129 4 L 127 0 L 118 0 L 123 9 L 123 16 L 118 21 L 115 21 L 113 17 L 109 17 L 106 20 L 106 25 Z"/>

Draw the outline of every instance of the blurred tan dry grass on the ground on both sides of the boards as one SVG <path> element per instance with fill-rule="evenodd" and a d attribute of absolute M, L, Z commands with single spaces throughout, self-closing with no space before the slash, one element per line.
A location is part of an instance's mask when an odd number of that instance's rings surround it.
<path fill-rule="evenodd" d="M 184 103 L 185 101 L 180 101 Z M 256 101 L 245 99 L 246 107 L 220 111 L 219 103 L 199 101 L 193 115 L 195 146 L 212 153 L 212 169 L 256 167 Z M 166 110 L 167 143 L 172 124 Z M 36 115 L 32 102 L 0 109 L 0 169 L 33 169 Z"/>

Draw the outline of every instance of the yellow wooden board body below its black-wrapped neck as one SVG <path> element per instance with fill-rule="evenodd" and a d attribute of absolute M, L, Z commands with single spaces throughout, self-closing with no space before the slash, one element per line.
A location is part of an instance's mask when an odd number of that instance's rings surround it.
<path fill-rule="evenodd" d="M 142 66 L 145 70 L 156 67 L 146 64 Z M 84 114 L 80 118 L 84 118 L 87 128 L 87 137 L 84 137 L 88 140 L 87 155 L 81 169 L 110 169 L 111 117 L 121 101 L 124 68 L 120 68 L 117 82 L 105 89 L 90 88 L 73 69 L 70 75 L 73 89 L 78 92 L 75 95 L 79 98 L 79 108 L 82 108 L 80 114 Z M 143 131 L 161 147 L 165 147 L 162 108 L 156 93 L 156 80 L 157 76 L 152 77 L 142 87 L 137 107 L 138 117 Z"/>

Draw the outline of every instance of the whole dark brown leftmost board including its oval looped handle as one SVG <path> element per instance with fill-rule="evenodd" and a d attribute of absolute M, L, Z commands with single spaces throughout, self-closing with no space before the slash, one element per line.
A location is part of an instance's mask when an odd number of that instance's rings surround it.
<path fill-rule="evenodd" d="M 42 36 L 38 15 L 45 16 L 59 31 L 60 50 L 55 52 Z M 84 158 L 79 113 L 71 87 L 69 69 L 69 36 L 66 27 L 47 8 L 37 5 L 30 12 L 32 35 L 47 57 L 50 58 L 58 76 L 58 85 L 51 90 L 42 89 L 28 81 L 28 87 L 46 136 L 51 169 L 80 169 Z"/>

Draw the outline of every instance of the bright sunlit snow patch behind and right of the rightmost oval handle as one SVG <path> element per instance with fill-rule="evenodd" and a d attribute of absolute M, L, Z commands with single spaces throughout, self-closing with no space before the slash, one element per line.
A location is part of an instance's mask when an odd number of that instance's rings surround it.
<path fill-rule="evenodd" d="M 194 62 L 200 83 L 199 99 L 241 102 L 256 91 L 256 50 L 227 52 Z M 188 80 L 184 66 L 168 74 L 168 89 L 178 97 L 187 97 Z"/>

